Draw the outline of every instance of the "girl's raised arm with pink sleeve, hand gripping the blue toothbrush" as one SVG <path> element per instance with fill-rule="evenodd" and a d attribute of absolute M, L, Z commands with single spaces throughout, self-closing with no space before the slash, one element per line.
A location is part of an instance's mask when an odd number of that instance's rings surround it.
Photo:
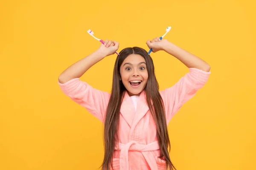
<path fill-rule="evenodd" d="M 148 48 L 152 48 L 153 52 L 166 51 L 189 68 L 189 73 L 181 77 L 175 85 L 160 91 L 166 111 L 167 123 L 169 123 L 181 106 L 195 96 L 196 92 L 205 85 L 211 74 L 211 67 L 203 59 L 183 50 L 168 40 L 155 38 L 151 41 L 148 40 L 146 44 Z"/>

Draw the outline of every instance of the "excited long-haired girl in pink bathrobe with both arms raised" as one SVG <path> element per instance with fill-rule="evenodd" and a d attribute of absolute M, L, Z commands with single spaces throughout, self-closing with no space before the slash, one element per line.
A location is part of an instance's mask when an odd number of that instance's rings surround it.
<path fill-rule="evenodd" d="M 116 57 L 111 94 L 99 91 L 79 77 L 117 51 L 119 43 L 106 40 L 58 77 L 64 94 L 104 123 L 102 170 L 174 170 L 167 125 L 209 78 L 207 62 L 168 40 L 155 38 L 146 44 L 153 52 L 163 50 L 179 59 L 189 73 L 159 91 L 152 58 L 143 48 L 125 48 Z"/>

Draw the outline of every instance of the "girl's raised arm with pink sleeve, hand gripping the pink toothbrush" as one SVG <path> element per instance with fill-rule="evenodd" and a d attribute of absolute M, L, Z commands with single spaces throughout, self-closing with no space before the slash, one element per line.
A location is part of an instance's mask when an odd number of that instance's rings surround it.
<path fill-rule="evenodd" d="M 105 45 L 102 44 L 97 51 L 71 65 L 58 77 L 61 91 L 102 122 L 110 94 L 93 88 L 79 78 L 104 57 L 114 54 L 118 47 L 118 42 L 106 40 Z"/>

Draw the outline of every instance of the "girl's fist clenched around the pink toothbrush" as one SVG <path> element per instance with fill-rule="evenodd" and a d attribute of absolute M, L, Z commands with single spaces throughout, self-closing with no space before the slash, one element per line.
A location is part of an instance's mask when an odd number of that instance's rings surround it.
<path fill-rule="evenodd" d="M 105 57 L 115 54 L 115 52 L 119 48 L 119 42 L 111 41 L 111 40 L 105 40 L 105 44 L 101 44 L 99 46 L 98 51 L 100 51 L 102 54 L 105 55 Z"/>

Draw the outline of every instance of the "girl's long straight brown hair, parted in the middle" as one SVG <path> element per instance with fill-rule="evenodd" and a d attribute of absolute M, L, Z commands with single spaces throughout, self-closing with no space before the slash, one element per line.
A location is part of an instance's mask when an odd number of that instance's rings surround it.
<path fill-rule="evenodd" d="M 116 62 L 113 71 L 113 84 L 111 90 L 111 96 L 108 102 L 108 108 L 106 111 L 105 121 L 104 121 L 104 149 L 105 155 L 102 163 L 102 170 L 110 170 L 113 168 L 112 159 L 116 142 L 119 141 L 118 129 L 119 129 L 119 117 L 120 108 L 122 104 L 122 99 L 124 97 L 126 88 L 122 81 L 119 80 L 120 66 L 122 62 L 130 54 L 141 55 L 146 62 L 148 71 L 148 82 L 145 86 L 146 100 L 149 107 L 149 111 L 154 119 L 157 127 L 157 139 L 160 147 L 160 159 L 166 161 L 166 170 L 175 167 L 173 166 L 169 152 L 171 149 L 170 139 L 167 130 L 165 110 L 163 107 L 163 99 L 159 93 L 159 85 L 154 73 L 154 64 L 152 58 L 148 55 L 147 51 L 140 47 L 125 48 L 123 49 L 119 56 L 116 57 Z M 154 107 L 151 105 L 151 100 Z M 168 152 L 169 147 L 169 152 Z M 176 170 L 176 169 L 175 169 Z"/>

